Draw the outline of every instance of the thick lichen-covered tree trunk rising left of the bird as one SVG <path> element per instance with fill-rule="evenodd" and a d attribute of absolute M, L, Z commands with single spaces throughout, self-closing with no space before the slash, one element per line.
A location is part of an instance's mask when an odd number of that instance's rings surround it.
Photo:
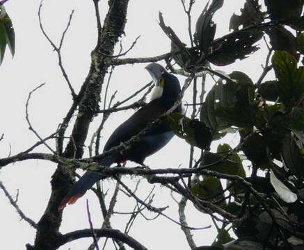
<path fill-rule="evenodd" d="M 97 1 L 97 0 L 95 0 Z M 122 35 L 127 21 L 127 6 L 129 0 L 109 1 L 109 12 L 106 15 L 104 26 L 101 30 L 99 40 L 92 53 L 90 72 L 81 88 L 82 97 L 79 100 L 79 114 L 72 131 L 72 140 L 67 144 L 63 155 L 68 158 L 81 158 L 83 145 L 88 135 L 88 128 L 96 111 L 99 110 L 100 92 L 109 67 L 106 64 L 106 56 L 112 55 L 118 38 Z M 75 152 L 76 145 L 76 152 Z M 58 205 L 72 184 L 71 174 L 58 165 L 51 180 L 51 197 L 40 221 L 33 247 L 36 250 L 56 249 L 61 233 L 62 210 Z"/>

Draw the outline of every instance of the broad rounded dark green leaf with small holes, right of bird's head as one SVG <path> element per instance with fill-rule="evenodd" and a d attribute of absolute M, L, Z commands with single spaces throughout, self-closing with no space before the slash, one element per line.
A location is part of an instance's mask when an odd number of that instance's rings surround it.
<path fill-rule="evenodd" d="M 253 81 L 242 72 L 229 75 L 234 81 L 218 80 L 202 104 L 200 119 L 211 128 L 214 140 L 232 125 L 252 127 L 257 113 Z"/>

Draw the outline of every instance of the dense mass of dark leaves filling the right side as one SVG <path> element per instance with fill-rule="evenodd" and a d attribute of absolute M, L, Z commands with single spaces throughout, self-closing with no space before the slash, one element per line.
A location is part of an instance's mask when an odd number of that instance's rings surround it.
<path fill-rule="evenodd" d="M 200 121 L 182 115 L 168 119 L 179 137 L 205 149 L 202 166 L 223 176 L 243 177 L 248 183 L 226 181 L 223 185 L 225 178 L 215 176 L 199 176 L 191 183 L 191 192 L 198 199 L 239 218 L 248 216 L 234 223 L 239 238 L 235 246 L 250 239 L 284 249 L 287 238 L 304 236 L 303 215 L 295 209 L 303 207 L 304 199 L 304 67 L 299 63 L 304 54 L 303 1 L 265 0 L 264 4 L 266 12 L 261 11 L 259 1 L 246 1 L 241 15 L 230 19 L 234 31 L 214 39 L 216 24 L 212 18 L 223 1 L 207 3 L 196 22 L 195 46 L 191 48 L 177 38 L 161 16 L 160 25 L 171 40 L 175 62 L 189 72 L 198 72 L 207 63 L 228 65 L 246 58 L 257 49 L 255 42 L 268 35 L 270 51 L 274 51 L 269 67 L 275 78 L 255 84 L 245 73 L 232 72 L 218 79 L 208 92 L 200 107 Z M 192 122 L 197 126 L 189 127 Z M 211 142 L 236 132 L 240 135 L 236 149 L 220 144 L 216 153 L 207 151 Z M 250 163 L 250 176 L 246 176 L 244 159 Z M 226 237 L 225 226 L 218 228 L 214 246 L 223 247 L 232 240 Z M 255 246 L 261 248 L 257 243 Z"/>

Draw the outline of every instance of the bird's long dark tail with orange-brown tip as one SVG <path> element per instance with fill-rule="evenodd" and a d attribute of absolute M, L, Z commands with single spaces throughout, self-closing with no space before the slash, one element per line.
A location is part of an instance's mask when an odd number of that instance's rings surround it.
<path fill-rule="evenodd" d="M 115 163 L 115 161 L 115 156 L 108 156 L 100 160 L 99 164 L 102 165 L 102 167 L 109 167 L 112 163 Z M 83 176 L 81 176 L 81 178 L 79 178 L 77 183 L 74 183 L 70 192 L 68 192 L 61 201 L 58 209 L 65 208 L 67 204 L 74 204 L 80 197 L 83 196 L 83 194 L 86 193 L 87 190 L 92 188 L 94 183 L 102 178 L 106 178 L 106 176 L 99 174 L 98 172 L 87 171 L 85 174 L 83 174 Z"/>

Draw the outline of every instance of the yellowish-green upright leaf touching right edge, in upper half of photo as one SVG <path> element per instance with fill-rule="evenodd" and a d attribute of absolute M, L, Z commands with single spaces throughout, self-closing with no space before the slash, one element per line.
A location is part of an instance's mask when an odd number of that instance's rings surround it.
<path fill-rule="evenodd" d="M 297 67 L 296 58 L 286 51 L 275 51 L 272 63 L 280 101 L 290 110 L 304 92 L 304 67 Z"/>

